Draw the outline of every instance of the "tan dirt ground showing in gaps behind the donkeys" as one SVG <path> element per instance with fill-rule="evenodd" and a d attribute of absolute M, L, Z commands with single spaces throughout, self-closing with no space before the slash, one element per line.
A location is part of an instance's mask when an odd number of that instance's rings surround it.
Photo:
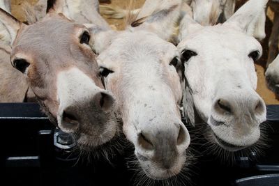
<path fill-rule="evenodd" d="M 29 1 L 30 3 L 34 4 L 38 0 L 11 0 L 11 1 L 12 1 L 13 15 L 17 17 L 17 19 L 19 20 L 24 20 L 24 17 L 22 16 L 22 10 L 20 9 L 21 4 L 24 1 Z M 107 1 L 107 3 L 111 3 L 120 6 L 122 8 L 126 8 L 128 1 L 111 0 L 111 1 Z M 143 3 L 144 0 L 137 0 L 135 5 L 136 8 L 140 7 Z M 107 22 L 109 22 L 109 24 L 114 24 L 114 26 L 116 26 L 117 29 L 123 29 L 124 27 L 123 20 L 112 20 L 112 19 L 106 19 L 106 20 Z M 264 70 L 265 70 L 265 64 L 266 64 L 267 52 L 268 52 L 268 39 L 271 33 L 271 28 L 273 26 L 272 20 L 273 20 L 273 13 L 271 12 L 271 10 L 268 10 L 268 16 L 266 18 L 266 38 L 262 41 L 264 55 L 262 56 L 262 59 L 260 59 L 255 64 L 257 70 L 257 77 L 258 77 L 257 92 L 259 93 L 259 95 L 262 96 L 266 104 L 279 104 L 279 98 L 277 98 L 276 95 L 266 87 L 265 79 L 264 79 Z"/>

